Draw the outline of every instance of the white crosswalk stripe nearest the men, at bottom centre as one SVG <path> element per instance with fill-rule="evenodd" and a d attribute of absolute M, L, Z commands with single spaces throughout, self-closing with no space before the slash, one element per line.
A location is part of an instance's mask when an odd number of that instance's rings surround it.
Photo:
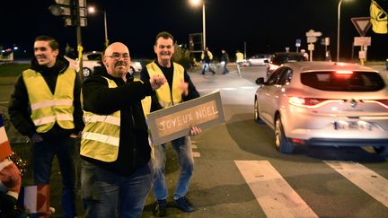
<path fill-rule="evenodd" d="M 267 217 L 318 217 L 269 161 L 234 161 Z"/>

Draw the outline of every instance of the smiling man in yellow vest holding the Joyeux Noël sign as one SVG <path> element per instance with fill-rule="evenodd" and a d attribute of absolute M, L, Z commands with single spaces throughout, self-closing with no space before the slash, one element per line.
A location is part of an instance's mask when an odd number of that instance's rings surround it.
<path fill-rule="evenodd" d="M 185 100 L 192 100 L 199 97 L 189 74 L 183 66 L 172 62 L 174 53 L 172 34 L 162 31 L 157 34 L 154 43 L 154 53 L 157 60 L 146 65 L 140 73 L 140 79 L 147 81 L 153 75 L 164 76 L 168 83 L 154 92 L 152 96 L 151 111 L 164 109 L 177 105 Z M 194 126 L 188 135 L 198 135 L 200 128 Z M 172 141 L 172 147 L 178 154 L 180 161 L 180 177 L 175 188 L 173 199 L 175 205 L 182 211 L 190 213 L 194 206 L 186 197 L 189 188 L 190 178 L 194 169 L 194 160 L 191 150 L 190 136 L 183 136 Z M 167 206 L 167 187 L 164 177 L 166 162 L 166 144 L 154 147 L 153 173 L 154 173 L 154 203 L 153 213 L 156 216 L 165 216 Z"/>

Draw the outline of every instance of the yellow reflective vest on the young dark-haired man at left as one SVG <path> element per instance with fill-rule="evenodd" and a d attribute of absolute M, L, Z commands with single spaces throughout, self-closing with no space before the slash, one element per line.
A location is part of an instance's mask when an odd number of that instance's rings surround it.
<path fill-rule="evenodd" d="M 74 125 L 74 88 L 75 71 L 67 68 L 58 74 L 54 94 L 39 72 L 31 69 L 22 72 L 31 105 L 31 119 L 37 126 L 38 133 L 46 133 L 57 122 L 64 129 Z"/>

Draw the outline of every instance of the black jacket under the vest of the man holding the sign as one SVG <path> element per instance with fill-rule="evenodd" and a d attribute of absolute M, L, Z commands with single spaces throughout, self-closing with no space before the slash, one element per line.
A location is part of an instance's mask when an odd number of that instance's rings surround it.
<path fill-rule="evenodd" d="M 172 76 L 173 76 L 173 65 L 170 68 L 163 67 L 162 65 L 159 65 L 157 61 L 154 61 L 156 65 L 159 66 L 159 68 L 162 70 L 164 77 L 167 80 L 167 83 L 169 84 L 170 87 L 172 87 Z M 140 80 L 142 81 L 148 81 L 150 79 L 150 76 L 148 74 L 148 70 L 146 67 L 143 68 L 142 72 L 140 72 Z M 189 94 L 188 96 L 182 96 L 182 100 L 193 100 L 195 98 L 199 97 L 199 93 L 194 86 L 194 83 L 191 82 L 190 75 L 184 71 L 184 82 L 189 83 Z M 151 112 L 158 110 L 158 109 L 163 109 L 162 106 L 159 104 L 159 100 L 157 100 L 156 97 L 156 92 L 154 92 L 151 95 L 152 98 L 152 104 L 151 104 Z"/>

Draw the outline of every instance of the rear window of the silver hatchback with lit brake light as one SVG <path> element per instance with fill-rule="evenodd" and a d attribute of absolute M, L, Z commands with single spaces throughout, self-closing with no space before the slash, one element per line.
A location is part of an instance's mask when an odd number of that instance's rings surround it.
<path fill-rule="evenodd" d="M 375 92 L 385 87 L 383 78 L 375 72 L 309 72 L 301 74 L 301 82 L 314 89 L 337 92 Z"/>

